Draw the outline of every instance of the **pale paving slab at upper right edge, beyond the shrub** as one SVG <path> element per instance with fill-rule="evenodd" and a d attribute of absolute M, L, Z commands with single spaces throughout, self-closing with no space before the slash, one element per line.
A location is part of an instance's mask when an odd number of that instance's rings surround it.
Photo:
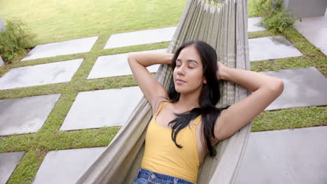
<path fill-rule="evenodd" d="M 327 55 L 327 17 L 303 17 L 301 20 L 302 22 L 297 21 L 294 27 Z"/>

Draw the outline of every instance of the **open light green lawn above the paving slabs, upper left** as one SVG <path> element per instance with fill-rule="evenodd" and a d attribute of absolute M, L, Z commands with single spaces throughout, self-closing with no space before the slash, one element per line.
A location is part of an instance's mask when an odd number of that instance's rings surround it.
<path fill-rule="evenodd" d="M 186 0 L 0 1 L 0 17 L 20 17 L 37 44 L 175 26 Z"/>

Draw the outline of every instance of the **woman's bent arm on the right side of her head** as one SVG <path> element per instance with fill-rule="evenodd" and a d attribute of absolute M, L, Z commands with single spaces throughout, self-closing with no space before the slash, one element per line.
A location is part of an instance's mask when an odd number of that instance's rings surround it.
<path fill-rule="evenodd" d="M 283 91 L 282 80 L 259 72 L 218 65 L 219 79 L 228 80 L 253 91 L 247 98 L 221 112 L 215 124 L 215 136 L 220 141 L 235 134 L 240 128 L 263 112 Z"/>

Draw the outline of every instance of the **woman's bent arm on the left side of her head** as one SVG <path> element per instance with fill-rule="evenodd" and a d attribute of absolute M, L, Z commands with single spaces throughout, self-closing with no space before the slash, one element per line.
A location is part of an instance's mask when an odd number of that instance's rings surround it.
<path fill-rule="evenodd" d="M 128 60 L 138 86 L 140 86 L 147 101 L 150 102 L 152 111 L 155 111 L 159 97 L 168 98 L 168 93 L 146 67 L 155 64 L 170 64 L 173 61 L 173 54 L 153 52 L 130 53 Z"/>

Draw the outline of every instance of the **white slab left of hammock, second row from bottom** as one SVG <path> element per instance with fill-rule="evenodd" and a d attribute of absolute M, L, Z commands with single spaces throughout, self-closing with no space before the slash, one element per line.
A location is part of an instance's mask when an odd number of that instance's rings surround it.
<path fill-rule="evenodd" d="M 138 86 L 80 92 L 60 130 L 124 125 L 142 95 Z"/>

